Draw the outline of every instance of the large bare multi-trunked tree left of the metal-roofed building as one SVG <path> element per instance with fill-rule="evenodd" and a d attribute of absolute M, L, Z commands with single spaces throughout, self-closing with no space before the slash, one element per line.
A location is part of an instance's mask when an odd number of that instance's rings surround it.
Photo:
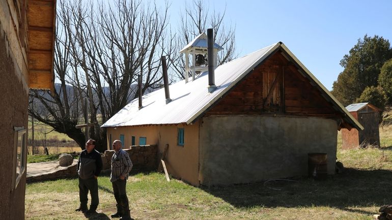
<path fill-rule="evenodd" d="M 106 131 L 100 125 L 137 97 L 137 75 L 142 91 L 162 83 L 160 57 L 172 56 L 172 38 L 166 39 L 167 4 L 159 11 L 154 3 L 118 0 L 113 5 L 61 2 L 55 40 L 55 91 L 30 92 L 29 113 L 65 133 L 83 147 L 85 137 L 75 125 L 94 123 L 90 137 L 97 149 L 106 149 Z M 88 99 L 88 104 L 83 103 Z M 82 112 L 89 112 L 89 118 Z"/>

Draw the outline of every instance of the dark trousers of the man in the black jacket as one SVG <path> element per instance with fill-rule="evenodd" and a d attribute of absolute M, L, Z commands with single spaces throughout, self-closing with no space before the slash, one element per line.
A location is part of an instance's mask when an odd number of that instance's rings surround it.
<path fill-rule="evenodd" d="M 79 199 L 80 205 L 87 206 L 87 201 L 89 198 L 87 194 L 90 191 L 91 196 L 91 206 L 90 208 L 97 208 L 99 204 L 98 197 L 98 180 L 94 177 L 90 179 L 81 179 L 79 177 Z"/>

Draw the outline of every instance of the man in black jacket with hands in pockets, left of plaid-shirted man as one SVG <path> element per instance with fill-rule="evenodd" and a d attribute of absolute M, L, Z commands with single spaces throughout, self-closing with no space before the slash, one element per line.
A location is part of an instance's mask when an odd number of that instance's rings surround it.
<path fill-rule="evenodd" d="M 99 204 L 98 176 L 102 170 L 101 154 L 94 149 L 95 140 L 86 142 L 86 149 L 82 150 L 77 162 L 77 174 L 79 175 L 79 199 L 80 206 L 75 211 L 83 213 L 95 213 Z M 90 191 L 91 205 L 87 210 L 87 194 Z"/>

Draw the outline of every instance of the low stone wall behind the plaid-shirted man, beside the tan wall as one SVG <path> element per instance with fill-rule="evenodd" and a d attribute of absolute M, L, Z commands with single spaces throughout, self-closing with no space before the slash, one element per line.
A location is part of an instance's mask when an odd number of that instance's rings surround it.
<path fill-rule="evenodd" d="M 130 146 L 125 150 L 132 161 L 132 170 L 156 170 L 158 168 L 157 145 Z M 103 170 L 110 169 L 111 157 L 114 150 L 105 150 L 102 156 Z"/>

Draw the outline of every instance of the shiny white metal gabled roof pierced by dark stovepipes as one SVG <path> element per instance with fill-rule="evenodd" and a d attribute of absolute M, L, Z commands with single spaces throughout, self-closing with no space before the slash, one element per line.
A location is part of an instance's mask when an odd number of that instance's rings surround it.
<path fill-rule="evenodd" d="M 285 52 L 298 68 L 304 73 L 313 86 L 317 87 L 332 103 L 344 118 L 344 121 L 359 130 L 362 125 L 337 101 L 331 93 L 307 70 L 301 62 L 282 43 L 270 45 L 241 58 L 232 60 L 215 69 L 215 85 L 217 88 L 208 92 L 208 72 L 198 75 L 194 81 L 185 83 L 185 80 L 170 85 L 172 102 L 166 104 L 164 89 L 161 88 L 143 96 L 143 108 L 138 109 L 138 100 L 132 100 L 117 114 L 107 120 L 101 127 L 120 127 L 134 125 L 155 124 L 191 124 L 212 106 L 219 98 L 225 95 L 233 86 L 260 65 L 274 52 L 281 50 Z M 350 128 L 351 129 L 351 128 Z"/>

